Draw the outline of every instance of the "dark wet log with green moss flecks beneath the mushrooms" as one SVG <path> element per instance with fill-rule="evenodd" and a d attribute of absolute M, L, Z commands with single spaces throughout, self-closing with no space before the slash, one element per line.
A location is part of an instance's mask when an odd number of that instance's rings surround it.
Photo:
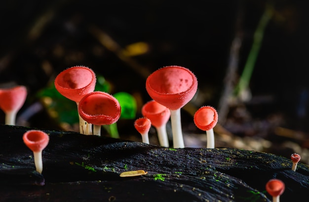
<path fill-rule="evenodd" d="M 164 148 L 75 132 L 43 130 L 43 172 L 23 143 L 27 127 L 0 125 L 3 201 L 265 202 L 265 184 L 284 181 L 281 202 L 308 196 L 309 168 L 273 154 L 232 148 Z M 126 171 L 146 175 L 120 177 Z M 296 199 L 295 199 L 296 198 Z"/>

